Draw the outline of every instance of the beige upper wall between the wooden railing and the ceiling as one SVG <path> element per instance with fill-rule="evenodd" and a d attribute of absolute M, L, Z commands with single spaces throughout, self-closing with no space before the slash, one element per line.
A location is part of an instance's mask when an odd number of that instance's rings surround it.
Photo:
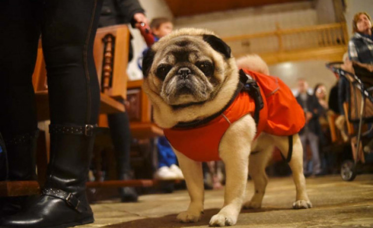
<path fill-rule="evenodd" d="M 276 23 L 281 28 L 315 25 L 316 10 L 312 8 L 311 1 L 301 1 L 180 17 L 174 20 L 175 28 L 206 28 L 220 36 L 273 31 L 276 29 Z"/>

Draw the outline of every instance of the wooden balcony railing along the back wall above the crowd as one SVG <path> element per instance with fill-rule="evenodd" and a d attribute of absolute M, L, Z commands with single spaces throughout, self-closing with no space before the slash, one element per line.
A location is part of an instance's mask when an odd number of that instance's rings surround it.
<path fill-rule="evenodd" d="M 323 47 L 346 46 L 345 23 L 308 26 L 299 29 L 281 29 L 276 25 L 271 32 L 223 37 L 235 56 L 248 53 L 289 52 Z"/>

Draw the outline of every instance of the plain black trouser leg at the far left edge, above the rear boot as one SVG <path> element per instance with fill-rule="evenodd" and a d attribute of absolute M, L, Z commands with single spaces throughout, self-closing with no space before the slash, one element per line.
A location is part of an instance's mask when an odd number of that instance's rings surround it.
<path fill-rule="evenodd" d="M 32 74 L 40 5 L 38 0 L 0 1 L 0 132 L 4 138 L 37 128 Z"/>

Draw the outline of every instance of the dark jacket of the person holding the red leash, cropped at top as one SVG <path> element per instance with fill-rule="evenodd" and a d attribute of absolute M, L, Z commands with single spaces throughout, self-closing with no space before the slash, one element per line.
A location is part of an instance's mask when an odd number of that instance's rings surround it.
<path fill-rule="evenodd" d="M 145 13 L 138 0 L 103 0 L 99 28 L 128 23 L 134 27 L 136 13 Z M 130 41 L 128 61 L 131 61 L 133 56 L 134 51 Z"/>

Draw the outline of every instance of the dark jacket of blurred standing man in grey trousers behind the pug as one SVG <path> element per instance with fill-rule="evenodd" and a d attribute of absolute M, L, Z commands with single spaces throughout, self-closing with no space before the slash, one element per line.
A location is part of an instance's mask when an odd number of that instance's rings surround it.
<path fill-rule="evenodd" d="M 303 100 L 300 95 L 297 96 L 298 103 L 302 106 L 303 109 L 305 109 L 305 105 L 303 103 Z M 307 111 L 312 113 L 312 118 L 309 120 L 309 122 L 305 125 L 307 126 L 308 130 L 310 130 L 312 133 L 319 135 L 321 132 L 321 127 L 319 123 L 319 102 L 315 96 L 307 94 L 307 99 L 305 101 Z M 304 132 L 305 128 L 303 128 L 301 131 L 299 131 L 299 134 L 302 134 Z"/>

